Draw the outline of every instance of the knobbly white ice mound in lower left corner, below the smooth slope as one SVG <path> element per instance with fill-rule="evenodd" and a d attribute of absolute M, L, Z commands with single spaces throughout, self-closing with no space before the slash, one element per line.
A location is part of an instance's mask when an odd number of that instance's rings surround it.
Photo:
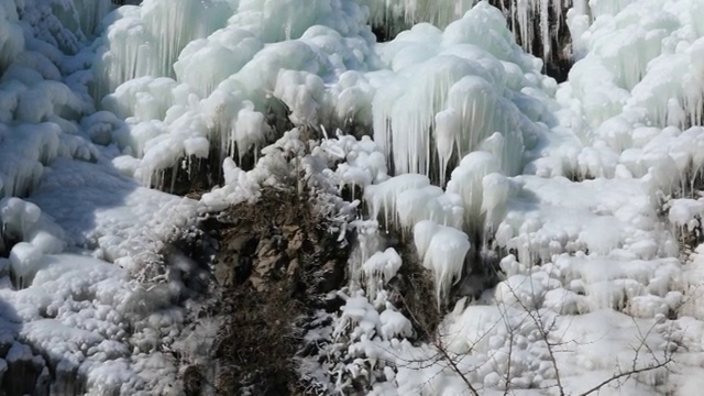
<path fill-rule="evenodd" d="M 128 271 L 95 258 L 88 251 L 43 254 L 34 250 L 28 254 L 32 249 L 31 242 L 12 248 L 10 272 L 3 274 L 7 282 L 0 289 L 2 318 L 16 323 L 3 322 L 3 331 L 11 330 L 11 338 L 21 340 L 16 345 L 42 352 L 29 355 L 33 363 L 22 380 L 30 382 L 28 389 L 34 388 L 32 373 L 45 367 L 57 373 L 51 384 L 51 392 L 57 393 L 82 388 L 134 394 L 163 392 L 170 386 L 174 362 L 165 356 L 150 358 L 160 360 L 155 371 L 160 375 L 154 375 L 141 367 L 145 356 L 140 353 L 152 354 L 178 334 L 184 314 L 172 306 L 174 296 L 160 286 L 144 288 Z M 155 321 L 155 317 L 161 319 Z M 10 355 L 6 359 L 15 364 Z M 122 382 L 82 383 L 81 378 L 96 375 L 95 370 L 117 362 L 124 362 L 113 373 Z"/>

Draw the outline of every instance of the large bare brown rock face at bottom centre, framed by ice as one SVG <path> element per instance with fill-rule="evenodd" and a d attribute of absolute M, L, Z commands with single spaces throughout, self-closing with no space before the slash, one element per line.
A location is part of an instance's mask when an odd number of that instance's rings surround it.
<path fill-rule="evenodd" d="M 341 287 L 349 254 L 315 210 L 296 191 L 271 189 L 220 216 L 219 394 L 300 394 L 301 323 Z"/>

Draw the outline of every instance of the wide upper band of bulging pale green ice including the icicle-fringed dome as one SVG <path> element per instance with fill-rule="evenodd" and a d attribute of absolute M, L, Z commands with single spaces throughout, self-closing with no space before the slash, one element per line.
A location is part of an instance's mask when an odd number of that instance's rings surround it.
<path fill-rule="evenodd" d="M 148 12 L 165 7 L 160 4 L 147 1 L 112 14 L 95 66 L 118 76 L 116 86 L 124 80 L 101 107 L 132 125 L 120 142 L 129 147 L 125 154 L 142 157 L 135 175 L 144 183 L 160 179 L 183 157 L 241 156 L 261 147 L 273 138 L 273 118 L 285 117 L 283 109 L 294 125 L 362 133 L 373 128 L 375 140 L 393 153 L 393 172 L 419 172 L 439 184 L 451 161 L 480 146 L 493 151 L 506 173 L 518 173 L 524 150 L 551 122 L 541 92 L 550 96 L 553 82 L 540 75 L 539 61 L 520 52 L 501 13 L 485 3 L 444 32 L 419 25 L 385 44 L 374 43 L 364 8 L 352 1 L 321 3 L 312 13 L 274 13 L 254 2 L 228 11 L 231 6 L 213 3 L 217 16 L 212 11 L 199 21 L 215 32 L 180 53 L 177 42 L 185 36 L 163 38 L 167 45 L 139 33 L 155 29 Z M 227 25 L 216 30 L 228 12 Z M 289 28 L 271 28 L 280 25 Z M 160 45 L 173 51 L 157 51 Z M 157 53 L 127 50 L 138 47 Z M 135 61 L 110 61 L 133 56 L 120 55 L 124 51 L 136 54 Z M 147 73 L 148 67 L 113 70 L 176 56 L 175 75 Z M 136 78 L 143 74 L 150 76 Z M 424 82 L 408 84 L 413 75 Z"/>

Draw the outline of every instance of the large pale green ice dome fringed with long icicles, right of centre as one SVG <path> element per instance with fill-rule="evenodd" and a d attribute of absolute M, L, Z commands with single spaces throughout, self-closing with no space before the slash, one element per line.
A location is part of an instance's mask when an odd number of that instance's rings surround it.
<path fill-rule="evenodd" d="M 452 158 L 483 144 L 496 148 L 507 174 L 522 168 L 522 150 L 542 128 L 534 122 L 544 110 L 507 92 L 530 84 L 522 76 L 527 70 L 536 73 L 532 84 L 543 82 L 537 65 L 516 55 L 502 23 L 497 10 L 479 4 L 444 32 L 417 28 L 382 47 L 382 59 L 398 77 L 375 96 L 374 138 L 393 158 L 395 173 L 426 174 L 443 185 Z M 429 37 L 438 37 L 436 56 L 427 52 Z M 411 85 L 408 76 L 419 77 Z"/>

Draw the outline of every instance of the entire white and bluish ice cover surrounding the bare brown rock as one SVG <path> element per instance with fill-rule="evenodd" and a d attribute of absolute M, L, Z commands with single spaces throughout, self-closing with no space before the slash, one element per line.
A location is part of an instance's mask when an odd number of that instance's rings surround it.
<path fill-rule="evenodd" d="M 565 7 L 502 4 L 542 42 Z M 380 21 L 413 28 L 377 43 Z M 560 23 L 558 85 L 486 2 L 0 0 L 3 389 L 179 394 L 208 274 L 178 242 L 302 175 L 359 237 L 311 388 L 697 395 L 704 2 L 574 1 Z M 213 156 L 200 201 L 152 188 Z M 477 297 L 430 344 L 386 288 L 387 229 L 439 307 Z"/>

